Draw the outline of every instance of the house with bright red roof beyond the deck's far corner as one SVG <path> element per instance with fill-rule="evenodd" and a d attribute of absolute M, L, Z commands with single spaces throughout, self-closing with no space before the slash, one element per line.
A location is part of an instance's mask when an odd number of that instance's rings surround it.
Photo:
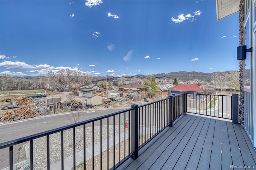
<path fill-rule="evenodd" d="M 190 93 L 190 94 L 198 94 L 202 93 L 204 89 L 198 85 L 176 85 L 171 88 L 173 94 L 182 94 L 182 92 Z"/>

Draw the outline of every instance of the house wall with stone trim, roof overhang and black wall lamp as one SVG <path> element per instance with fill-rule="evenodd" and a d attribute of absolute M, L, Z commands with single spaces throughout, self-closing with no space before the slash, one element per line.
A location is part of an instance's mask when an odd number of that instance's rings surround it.
<path fill-rule="evenodd" d="M 216 0 L 217 19 L 239 12 L 240 123 L 256 148 L 256 1 Z M 225 22 L 225 21 L 223 21 Z"/>

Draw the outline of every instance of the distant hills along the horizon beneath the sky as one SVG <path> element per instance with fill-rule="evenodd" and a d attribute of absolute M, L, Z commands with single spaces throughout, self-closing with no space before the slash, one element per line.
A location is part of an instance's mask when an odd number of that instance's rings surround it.
<path fill-rule="evenodd" d="M 229 73 L 230 71 L 226 71 Z M 214 72 L 216 73 L 216 72 Z M 171 72 L 171 73 L 159 73 L 153 74 L 155 80 L 159 84 L 172 84 L 174 78 L 178 80 L 179 84 L 194 84 L 194 83 L 201 83 L 201 84 L 210 84 L 212 81 L 212 75 L 214 73 L 203 73 L 203 72 L 186 72 L 186 71 L 179 71 L 179 72 Z M 33 77 L 33 76 L 24 76 L 24 77 L 17 77 L 23 79 L 39 79 L 40 77 Z M 122 77 L 114 77 L 114 76 L 93 76 L 93 81 L 106 81 L 108 78 L 108 82 L 121 82 L 121 83 L 144 83 L 146 75 L 134 75 L 134 76 L 122 76 Z"/>

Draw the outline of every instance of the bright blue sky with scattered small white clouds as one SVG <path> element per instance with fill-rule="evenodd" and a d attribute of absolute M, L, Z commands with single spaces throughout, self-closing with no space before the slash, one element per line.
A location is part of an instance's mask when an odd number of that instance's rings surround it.
<path fill-rule="evenodd" d="M 238 13 L 215 0 L 1 0 L 0 75 L 238 70 Z"/>

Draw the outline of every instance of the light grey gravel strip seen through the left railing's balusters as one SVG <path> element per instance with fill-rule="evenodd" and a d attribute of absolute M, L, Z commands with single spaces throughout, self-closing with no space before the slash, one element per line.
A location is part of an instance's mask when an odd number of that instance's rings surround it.
<path fill-rule="evenodd" d="M 119 134 L 118 126 L 115 126 L 115 135 Z M 124 126 L 121 126 L 120 133 L 124 132 Z M 113 126 L 109 126 L 109 137 L 113 136 Z M 107 138 L 107 127 L 102 126 L 102 140 Z M 73 155 L 73 132 L 64 132 L 64 158 Z M 100 142 L 100 128 L 94 127 L 94 143 Z M 29 150 L 29 143 L 27 144 Z M 86 148 L 92 146 L 92 128 L 86 128 Z M 76 130 L 76 152 L 83 150 L 83 129 Z M 35 170 L 43 169 L 47 166 L 46 155 L 46 137 L 38 138 L 33 141 Z M 29 155 L 29 154 L 28 154 Z M 50 135 L 50 164 L 60 161 L 60 133 Z M 16 165 L 16 169 L 24 169 L 30 164 L 29 160 Z"/>

